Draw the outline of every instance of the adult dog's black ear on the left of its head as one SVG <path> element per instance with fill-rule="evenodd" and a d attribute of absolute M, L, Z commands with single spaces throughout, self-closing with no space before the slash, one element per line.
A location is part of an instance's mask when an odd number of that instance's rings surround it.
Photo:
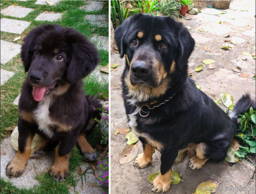
<path fill-rule="evenodd" d="M 115 40 L 117 42 L 117 48 L 120 52 L 120 57 L 122 58 L 126 53 L 125 50 L 125 42 L 124 42 L 124 35 L 127 33 L 130 25 L 132 16 L 127 18 L 117 29 L 115 30 Z"/>

